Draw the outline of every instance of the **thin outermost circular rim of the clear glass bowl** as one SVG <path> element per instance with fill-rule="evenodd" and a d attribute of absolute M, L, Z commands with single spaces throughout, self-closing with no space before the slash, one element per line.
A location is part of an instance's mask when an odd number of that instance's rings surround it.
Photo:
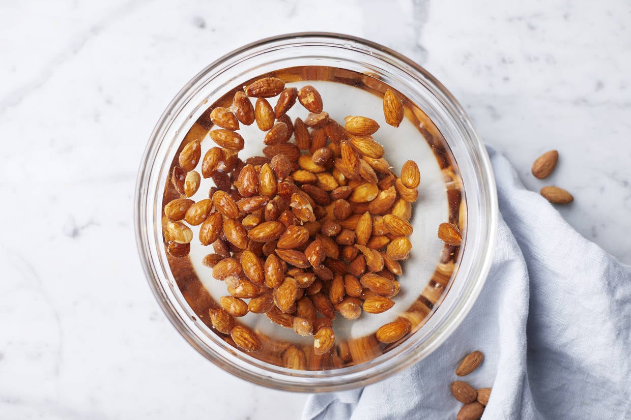
<path fill-rule="evenodd" d="M 476 277 L 478 277 L 477 283 L 474 284 L 474 287 L 470 290 L 468 296 L 466 296 L 466 300 L 460 302 L 460 305 L 456 305 L 456 313 L 452 313 L 451 316 L 445 318 L 445 323 L 447 324 L 445 328 L 441 329 L 435 335 L 435 338 L 431 341 L 431 343 L 423 347 L 422 352 L 416 352 L 413 357 L 402 361 L 397 366 L 391 366 L 388 370 L 382 370 L 377 372 L 376 375 L 370 376 L 369 378 L 364 378 L 362 375 L 362 371 L 357 371 L 351 375 L 350 378 L 347 378 L 346 381 L 339 380 L 340 378 L 336 378 L 336 382 L 331 383 L 330 379 L 334 378 L 333 375 L 327 376 L 326 378 L 315 378 L 315 380 L 319 379 L 329 379 L 329 382 L 322 382 L 313 385 L 311 383 L 300 383 L 300 382 L 290 382 L 284 383 L 283 380 L 278 380 L 278 378 L 272 378 L 269 375 L 266 375 L 265 372 L 261 371 L 252 371 L 251 369 L 244 368 L 243 366 L 235 366 L 230 365 L 226 366 L 225 363 L 221 363 L 221 360 L 216 357 L 216 355 L 208 353 L 208 346 L 206 346 L 205 342 L 199 339 L 198 335 L 196 335 L 187 325 L 183 322 L 182 317 L 179 316 L 177 312 L 177 308 L 174 306 L 174 302 L 170 300 L 167 295 L 165 295 L 165 290 L 160 288 L 160 284 L 157 280 L 159 277 L 158 272 L 155 271 L 155 267 L 151 264 L 150 259 L 150 243 L 149 236 L 147 231 L 147 226 L 144 225 L 144 216 L 146 215 L 146 199 L 148 198 L 148 178 L 150 177 L 151 171 L 148 170 L 148 165 L 150 165 L 153 161 L 155 161 L 155 156 L 157 153 L 157 149 L 160 144 L 156 141 L 158 140 L 158 135 L 160 132 L 165 129 L 165 126 L 170 124 L 169 117 L 174 115 L 178 115 L 177 113 L 180 110 L 177 110 L 178 107 L 182 107 L 184 104 L 182 103 L 185 100 L 186 96 L 191 95 L 191 88 L 196 86 L 201 79 L 206 76 L 209 71 L 214 69 L 215 67 L 220 66 L 222 63 L 232 59 L 233 57 L 237 57 L 240 54 L 244 54 L 245 52 L 256 49 L 259 47 L 263 47 L 266 44 L 286 41 L 286 40 L 299 40 L 300 38 L 317 38 L 319 40 L 336 40 L 339 42 L 340 40 L 349 40 L 351 42 L 355 42 L 358 44 L 363 44 L 369 49 L 374 49 L 379 52 L 382 52 L 386 55 L 391 55 L 399 62 L 402 62 L 406 66 L 409 66 L 413 71 L 419 73 L 423 78 L 427 79 L 427 81 L 433 85 L 433 87 L 437 90 L 432 93 L 439 93 L 439 100 L 441 102 L 447 102 L 451 108 L 457 113 L 457 117 L 459 117 L 459 123 L 464 125 L 464 129 L 468 131 L 468 137 L 471 139 L 471 148 L 476 152 L 476 158 L 478 158 L 478 162 L 480 167 L 478 168 L 480 175 L 484 181 L 484 184 L 481 187 L 485 187 L 485 193 L 482 195 L 482 198 L 485 199 L 486 208 L 489 216 L 489 223 L 487 226 L 487 243 L 483 249 L 484 256 L 483 259 L 479 262 L 478 267 L 476 267 Z M 184 102 L 186 103 L 186 101 Z M 176 111 L 177 112 L 174 112 Z M 466 194 L 466 192 L 465 192 Z M 432 74 L 430 74 L 425 68 L 416 64 L 416 62 L 412 61 L 408 57 L 399 54 L 398 52 L 385 47 L 384 45 L 377 44 L 370 40 L 366 40 L 364 38 L 355 37 L 352 35 L 345 35 L 341 33 L 333 33 L 333 32 L 296 32 L 296 33 L 285 33 L 282 35 L 275 35 L 273 37 L 263 38 L 256 42 L 251 42 L 249 44 L 243 45 L 227 54 L 222 55 L 215 61 L 208 64 L 208 66 L 204 67 L 201 71 L 199 71 L 191 80 L 189 80 L 186 85 L 180 89 L 180 91 L 175 95 L 175 97 L 168 104 L 165 111 L 158 119 L 153 131 L 151 132 L 150 140 L 144 149 L 143 158 L 141 160 L 141 164 L 139 167 L 138 178 L 136 180 L 136 190 L 134 194 L 134 230 L 136 234 L 136 245 L 138 247 L 139 257 L 141 259 L 141 265 L 143 266 L 144 274 L 147 278 L 148 283 L 150 284 L 150 288 L 153 291 L 153 295 L 156 300 L 160 304 L 162 311 L 167 315 L 167 318 L 170 320 L 171 324 L 174 325 L 175 329 L 180 332 L 180 335 L 186 339 L 192 347 L 194 347 L 199 353 L 203 354 L 204 357 L 210 359 L 215 363 L 215 365 L 220 366 L 224 370 L 230 371 L 234 375 L 239 376 L 245 380 L 249 380 L 250 382 L 257 383 L 259 385 L 264 385 L 266 387 L 277 388 L 281 390 L 287 391 L 296 391 L 296 392 L 329 392 L 334 390 L 345 390 L 349 388 L 356 388 L 368 385 L 370 383 L 377 382 L 379 380 L 384 379 L 386 376 L 390 376 L 408 366 L 413 365 L 414 363 L 420 361 L 425 358 L 429 354 L 431 354 L 435 349 L 437 349 L 451 334 L 456 330 L 456 328 L 461 324 L 464 320 L 464 317 L 469 313 L 473 305 L 475 304 L 478 296 L 480 295 L 481 289 L 485 284 L 485 281 L 488 276 L 488 272 L 490 270 L 490 264 L 492 260 L 493 247 L 495 245 L 495 236 L 497 233 L 497 219 L 498 219 L 498 203 L 497 203 L 497 189 L 495 187 L 495 178 L 493 177 L 493 170 L 490 164 L 490 158 L 488 157 L 487 150 L 485 146 L 481 143 L 480 137 L 475 131 L 471 120 L 468 115 L 464 111 L 464 108 L 457 102 L 456 98 L 451 94 L 447 88 L 445 88 L 440 81 L 438 81 Z M 416 347 L 413 347 L 414 349 Z M 213 350 L 213 349 L 211 349 Z M 422 354 L 421 354 L 422 353 Z M 369 363 L 369 362 L 368 362 Z M 362 366 L 364 364 L 351 366 L 351 368 L 355 368 L 357 366 Z M 252 368 L 252 366 L 249 366 Z M 276 366 L 278 368 L 278 366 Z M 284 369 L 284 368 L 281 368 Z M 342 368 L 339 370 L 330 370 L 328 372 L 334 371 L 342 371 L 348 370 L 350 368 Z M 313 373 L 312 371 L 307 371 L 309 373 Z M 277 373 L 280 376 L 287 376 L 287 378 L 297 378 L 297 375 L 283 375 L 283 373 Z M 305 376 L 302 376 L 303 378 Z"/>

